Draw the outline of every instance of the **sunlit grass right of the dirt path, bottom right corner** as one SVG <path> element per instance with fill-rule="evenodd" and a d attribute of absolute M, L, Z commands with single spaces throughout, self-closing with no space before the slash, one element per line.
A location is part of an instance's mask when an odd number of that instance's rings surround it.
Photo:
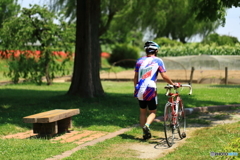
<path fill-rule="evenodd" d="M 240 122 L 233 124 L 219 125 L 213 128 L 196 130 L 194 136 L 187 139 L 187 142 L 174 152 L 161 159 L 227 159 L 226 156 L 211 157 L 210 152 L 225 152 L 224 148 L 231 141 L 240 136 Z M 235 157 L 236 158 L 236 157 Z M 238 156 L 240 158 L 240 155 Z"/>

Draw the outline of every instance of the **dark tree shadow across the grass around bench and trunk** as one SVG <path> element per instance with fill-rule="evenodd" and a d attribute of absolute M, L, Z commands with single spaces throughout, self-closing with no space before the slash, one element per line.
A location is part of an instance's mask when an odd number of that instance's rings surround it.
<path fill-rule="evenodd" d="M 32 128 L 32 124 L 24 123 L 23 117 L 53 109 L 80 109 L 80 114 L 73 116 L 75 127 L 118 126 L 124 128 L 139 121 L 138 101 L 129 93 L 106 93 L 96 98 L 79 98 L 67 96 L 66 91 L 34 90 L 34 89 L 1 89 L 0 124 L 13 124 L 23 128 Z M 159 94 L 158 110 L 162 114 L 166 96 Z M 197 101 L 194 96 L 186 96 L 184 102 L 191 105 L 214 104 L 216 101 Z M 233 102 L 236 104 L 237 102 Z M 185 103 L 185 107 L 187 103 Z M 196 106 L 197 107 L 197 106 Z M 160 115 L 158 115 L 160 116 Z"/>

